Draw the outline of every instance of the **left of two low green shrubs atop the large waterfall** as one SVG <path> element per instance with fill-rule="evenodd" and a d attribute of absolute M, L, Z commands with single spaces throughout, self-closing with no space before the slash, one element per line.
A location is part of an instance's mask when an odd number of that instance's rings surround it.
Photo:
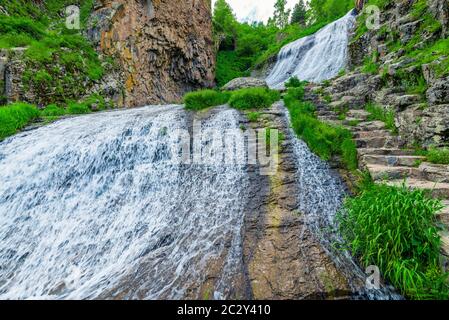
<path fill-rule="evenodd" d="M 226 104 L 231 93 L 215 90 L 201 90 L 187 93 L 184 96 L 184 104 L 188 110 L 201 110 Z"/>

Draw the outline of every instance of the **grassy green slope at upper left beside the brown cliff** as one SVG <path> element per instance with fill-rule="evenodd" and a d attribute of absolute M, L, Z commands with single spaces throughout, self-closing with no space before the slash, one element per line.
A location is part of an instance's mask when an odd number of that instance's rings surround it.
<path fill-rule="evenodd" d="M 39 106 L 79 99 L 104 73 L 91 44 L 80 32 L 66 29 L 68 5 L 80 7 L 83 22 L 93 0 L 49 0 L 39 7 L 30 1 L 2 2 L 9 16 L 0 14 L 0 48 L 28 47 L 22 81 L 26 90 L 38 93 Z"/>

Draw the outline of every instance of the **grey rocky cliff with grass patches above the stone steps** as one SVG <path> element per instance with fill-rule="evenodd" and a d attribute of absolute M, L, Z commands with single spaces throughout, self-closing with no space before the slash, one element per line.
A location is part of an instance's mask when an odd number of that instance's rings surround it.
<path fill-rule="evenodd" d="M 376 103 L 395 113 L 407 145 L 447 145 L 449 60 L 439 48 L 448 41 L 448 0 L 390 1 L 380 18 L 379 29 L 351 42 L 346 75 L 325 89 L 331 106 Z"/>

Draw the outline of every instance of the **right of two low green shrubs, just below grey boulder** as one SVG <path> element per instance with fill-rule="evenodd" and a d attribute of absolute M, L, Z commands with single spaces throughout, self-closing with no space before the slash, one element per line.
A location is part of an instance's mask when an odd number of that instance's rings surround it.
<path fill-rule="evenodd" d="M 240 110 L 268 108 L 280 100 L 278 91 L 265 88 L 241 89 L 232 93 L 229 105 Z"/>

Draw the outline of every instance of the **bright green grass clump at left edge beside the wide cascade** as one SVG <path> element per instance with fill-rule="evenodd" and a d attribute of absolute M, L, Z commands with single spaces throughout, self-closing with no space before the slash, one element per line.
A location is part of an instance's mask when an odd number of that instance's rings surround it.
<path fill-rule="evenodd" d="M 26 103 L 0 107 L 0 140 L 15 134 L 38 116 L 38 109 Z"/>

